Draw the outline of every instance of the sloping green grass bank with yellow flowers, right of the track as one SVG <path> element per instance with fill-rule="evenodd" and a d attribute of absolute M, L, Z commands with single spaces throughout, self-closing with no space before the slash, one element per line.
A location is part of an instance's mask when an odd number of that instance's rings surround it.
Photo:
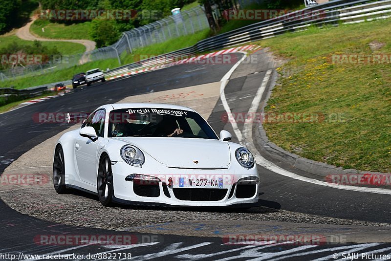
<path fill-rule="evenodd" d="M 391 54 L 391 20 L 310 28 L 259 42 L 289 59 L 266 113 L 321 113 L 311 123 L 264 123 L 271 141 L 300 156 L 391 172 L 391 67 L 333 64 L 333 54 Z"/>

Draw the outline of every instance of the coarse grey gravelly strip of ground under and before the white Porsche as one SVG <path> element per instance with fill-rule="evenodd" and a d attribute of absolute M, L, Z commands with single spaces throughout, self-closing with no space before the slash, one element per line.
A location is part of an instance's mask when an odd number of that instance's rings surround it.
<path fill-rule="evenodd" d="M 51 183 L 40 188 L 3 191 L 0 193 L 0 196 L 11 208 L 35 218 L 60 222 L 67 225 L 113 230 L 131 230 L 131 227 L 165 222 L 216 219 L 285 221 L 354 226 L 391 226 L 391 224 L 327 218 L 269 209 L 266 207 L 252 208 L 247 211 L 164 208 L 164 215 L 162 215 L 161 210 L 163 208 L 157 207 L 103 207 L 98 201 L 97 196 L 78 191 L 73 191 L 73 193 L 66 195 L 58 195 L 52 188 Z"/>

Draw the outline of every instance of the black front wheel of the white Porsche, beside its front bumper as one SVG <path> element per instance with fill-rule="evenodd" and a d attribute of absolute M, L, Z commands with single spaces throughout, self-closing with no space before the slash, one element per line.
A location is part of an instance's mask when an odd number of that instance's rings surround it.
<path fill-rule="evenodd" d="M 105 207 L 113 206 L 113 174 L 111 171 L 111 162 L 107 154 L 104 154 L 99 160 L 96 188 L 98 191 L 99 201 L 102 203 L 102 205 Z"/>

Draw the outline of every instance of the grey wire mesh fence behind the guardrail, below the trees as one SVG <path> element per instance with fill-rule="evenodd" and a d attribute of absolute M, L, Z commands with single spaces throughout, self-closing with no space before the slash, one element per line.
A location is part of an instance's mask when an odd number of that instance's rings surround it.
<path fill-rule="evenodd" d="M 156 43 L 163 43 L 179 36 L 194 34 L 209 28 L 205 11 L 201 6 L 181 11 L 159 21 L 124 32 L 114 44 L 89 52 L 63 55 L 60 61 L 46 64 L 16 65 L 0 71 L 0 81 L 42 75 L 48 72 L 104 59 L 117 59 L 121 65 L 121 55 L 132 53 L 134 49 Z"/>

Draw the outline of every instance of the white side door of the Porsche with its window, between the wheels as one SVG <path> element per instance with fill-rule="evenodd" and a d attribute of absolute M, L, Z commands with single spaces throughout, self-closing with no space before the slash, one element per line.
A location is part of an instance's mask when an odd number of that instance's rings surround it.
<path fill-rule="evenodd" d="M 75 156 L 77 169 L 81 180 L 96 185 L 96 174 L 98 169 L 97 154 L 100 144 L 104 143 L 106 111 L 100 109 L 92 113 L 83 123 L 82 128 L 90 126 L 95 129 L 98 139 L 92 141 L 87 137 L 78 136 L 75 142 Z"/>

